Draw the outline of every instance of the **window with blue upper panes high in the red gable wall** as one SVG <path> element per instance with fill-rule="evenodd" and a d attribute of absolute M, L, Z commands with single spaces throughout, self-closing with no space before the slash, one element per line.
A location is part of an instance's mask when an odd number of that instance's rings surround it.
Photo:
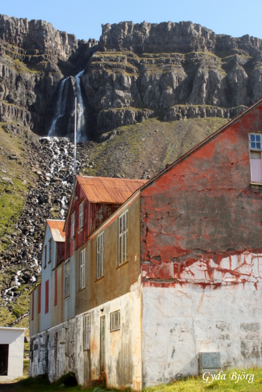
<path fill-rule="evenodd" d="M 262 134 L 249 134 L 251 181 L 262 183 Z"/>

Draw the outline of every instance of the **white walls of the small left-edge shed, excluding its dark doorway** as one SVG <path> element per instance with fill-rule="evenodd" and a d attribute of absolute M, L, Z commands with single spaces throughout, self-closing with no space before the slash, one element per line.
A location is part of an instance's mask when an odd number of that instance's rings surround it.
<path fill-rule="evenodd" d="M 0 344 L 9 344 L 7 376 L 22 377 L 24 361 L 24 328 L 0 327 Z"/>

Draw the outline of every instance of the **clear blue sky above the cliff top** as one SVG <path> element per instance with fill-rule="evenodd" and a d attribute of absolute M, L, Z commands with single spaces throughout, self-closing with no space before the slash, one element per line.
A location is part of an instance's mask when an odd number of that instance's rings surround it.
<path fill-rule="evenodd" d="M 85 40 L 99 39 L 101 24 L 123 21 L 192 21 L 217 34 L 262 38 L 262 0 L 9 0 L 1 2 L 0 13 L 43 19 Z"/>

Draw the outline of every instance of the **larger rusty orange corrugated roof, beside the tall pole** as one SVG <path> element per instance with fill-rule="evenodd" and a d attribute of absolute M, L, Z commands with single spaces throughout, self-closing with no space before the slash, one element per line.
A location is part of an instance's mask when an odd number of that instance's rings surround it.
<path fill-rule="evenodd" d="M 124 203 L 146 180 L 126 178 L 85 177 L 77 175 L 77 180 L 91 203 Z"/>

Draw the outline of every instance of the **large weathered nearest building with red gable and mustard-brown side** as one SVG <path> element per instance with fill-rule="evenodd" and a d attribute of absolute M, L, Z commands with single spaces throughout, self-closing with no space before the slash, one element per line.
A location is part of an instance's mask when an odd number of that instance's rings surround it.
<path fill-rule="evenodd" d="M 77 177 L 63 269 L 74 264 L 74 318 L 30 331 L 45 361 L 32 346 L 31 374 L 141 390 L 198 373 L 204 352 L 261 365 L 262 101 L 124 200 L 127 180 L 105 196 L 112 180 Z"/>

